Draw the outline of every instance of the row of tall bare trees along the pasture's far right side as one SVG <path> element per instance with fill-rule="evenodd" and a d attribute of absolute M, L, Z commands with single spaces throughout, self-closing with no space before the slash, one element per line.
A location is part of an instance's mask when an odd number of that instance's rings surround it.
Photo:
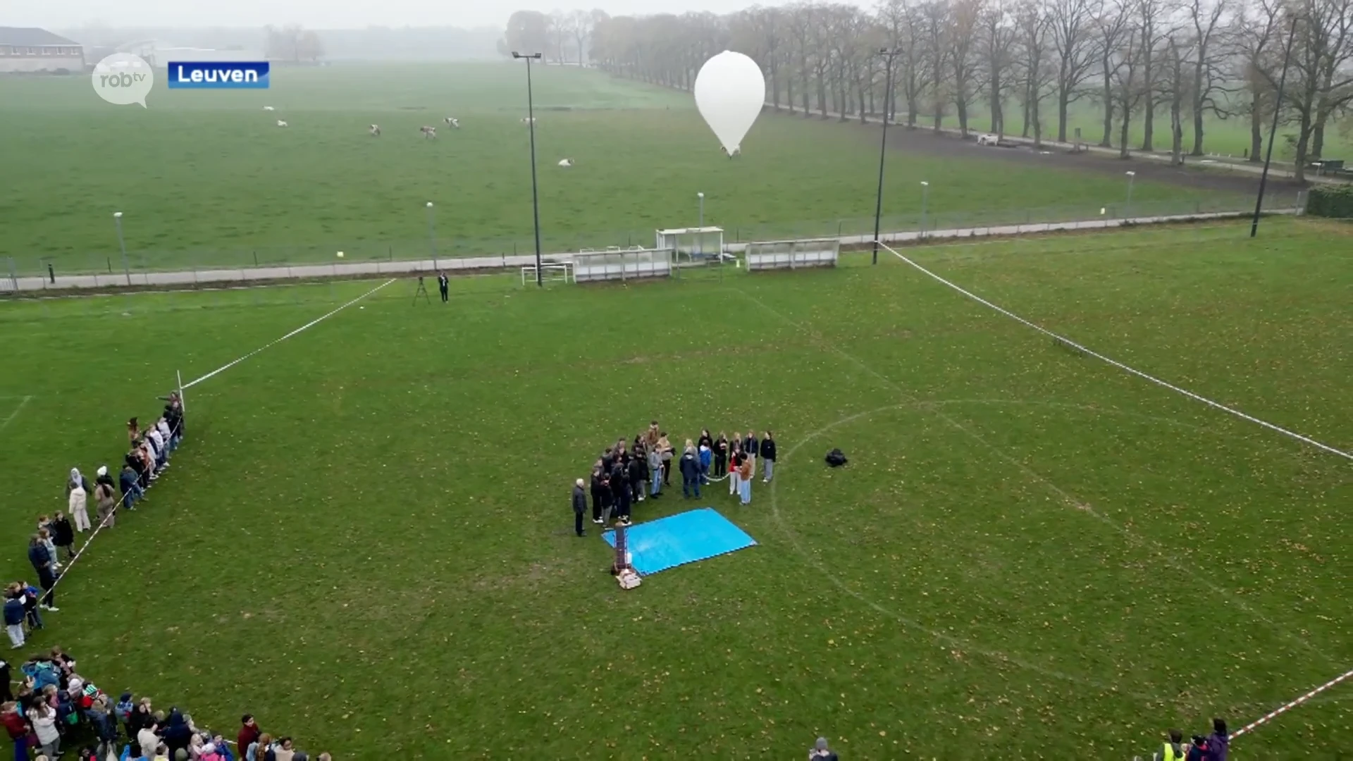
<path fill-rule="evenodd" d="M 1353 107 L 1353 0 L 884 0 L 875 11 L 808 1 L 724 16 L 521 11 L 503 47 L 675 88 L 690 88 L 710 56 L 739 50 L 762 65 L 774 108 L 842 121 L 882 112 L 892 65 L 892 116 L 908 127 L 939 130 L 954 116 L 967 134 L 985 111 L 997 134 L 1013 133 L 1017 119 L 1038 145 L 1069 142 L 1073 107 L 1085 102 L 1103 114 L 1103 133 L 1086 142 L 1124 157 L 1168 148 L 1181 162 L 1204 154 L 1215 118 L 1245 119 L 1249 157 L 1261 158 L 1289 38 L 1281 121 L 1300 177 Z M 1045 121 L 1055 135 L 1045 135 Z M 1141 142 L 1128 145 L 1132 125 Z"/>

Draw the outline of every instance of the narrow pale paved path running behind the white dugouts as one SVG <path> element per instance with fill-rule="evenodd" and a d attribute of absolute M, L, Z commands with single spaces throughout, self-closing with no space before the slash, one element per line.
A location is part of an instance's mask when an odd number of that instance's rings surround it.
<path fill-rule="evenodd" d="M 1196 222 L 1206 219 L 1235 219 L 1247 217 L 1245 211 L 1224 211 L 1210 214 L 1180 214 L 1170 217 L 1134 217 L 1130 219 L 1089 219 L 1082 222 L 1040 222 L 1027 225 L 994 225 L 985 227 L 962 227 L 950 230 L 928 230 L 909 233 L 884 233 L 879 240 L 890 244 L 915 242 L 921 238 L 967 238 L 989 236 L 1022 236 L 1036 233 L 1051 233 L 1058 230 L 1103 230 L 1122 227 L 1124 225 L 1161 225 L 1170 222 Z M 843 236 L 839 238 L 844 246 L 858 246 L 871 242 L 873 236 Z M 724 244 L 728 253 L 743 253 L 748 244 Z M 544 261 L 571 261 L 572 253 L 545 255 Z M 415 261 L 364 261 L 352 264 L 307 264 L 298 267 L 246 267 L 234 269 L 200 269 L 188 272 L 135 272 L 127 275 L 61 275 L 53 283 L 47 278 L 15 278 L 0 279 L 0 292 L 18 291 L 78 291 L 89 288 L 193 288 L 199 286 L 239 286 L 267 280 L 317 280 L 326 278 L 363 278 L 363 276 L 402 276 L 402 275 L 433 275 L 438 268 L 451 274 L 472 272 L 486 269 L 515 269 L 530 267 L 536 257 L 530 255 L 518 256 L 482 256 L 467 259 L 432 259 Z M 129 283 L 130 280 L 130 283 Z"/>

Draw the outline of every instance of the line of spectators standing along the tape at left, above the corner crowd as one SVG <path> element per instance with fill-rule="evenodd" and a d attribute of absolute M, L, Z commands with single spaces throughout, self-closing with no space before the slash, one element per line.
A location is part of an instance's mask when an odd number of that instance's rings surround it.
<path fill-rule="evenodd" d="M 160 399 L 165 402 L 164 414 L 152 425 L 142 429 L 135 417 L 127 421 L 130 450 L 123 456 L 116 482 L 106 464 L 95 471 L 92 486 L 80 469 L 72 467 L 65 485 L 66 510 L 38 517 L 37 529 L 28 536 L 28 562 L 37 574 L 41 594 L 22 580 L 8 584 L 4 590 L 5 634 L 12 649 L 23 647 L 30 634 L 43 628 L 39 609 L 53 613 L 60 609 L 54 588 L 62 567 L 74 562 L 80 554 L 76 548 L 77 535 L 111 528 L 116 523 L 118 510 L 137 509 L 137 502 L 145 500 L 146 492 L 169 467 L 169 458 L 184 436 L 183 399 L 177 393 Z M 91 500 L 99 516 L 97 527 L 89 521 Z"/>

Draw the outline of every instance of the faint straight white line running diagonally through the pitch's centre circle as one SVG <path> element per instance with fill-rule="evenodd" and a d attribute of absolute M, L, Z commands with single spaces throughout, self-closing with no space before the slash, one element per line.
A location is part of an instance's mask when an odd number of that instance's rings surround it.
<path fill-rule="evenodd" d="M 889 251 L 892 251 L 892 249 L 889 249 Z M 733 290 L 736 290 L 736 288 L 733 288 Z M 748 299 L 751 299 L 754 303 L 756 303 L 762 309 L 764 309 L 764 310 L 770 311 L 771 314 L 779 317 L 786 324 L 793 325 L 794 328 L 798 328 L 800 330 L 804 330 L 816 343 L 827 347 L 829 351 L 832 351 L 832 352 L 840 355 L 842 357 L 850 360 L 851 363 L 854 363 L 855 366 L 858 366 L 865 372 L 869 372 L 874 378 L 878 378 L 885 385 L 890 386 L 897 393 L 900 393 L 904 398 L 907 398 L 908 402 L 923 402 L 921 399 L 917 399 L 913 394 L 911 394 L 909 391 L 907 391 L 905 389 L 902 389 L 898 383 L 893 382 L 886 375 L 884 375 L 884 374 L 878 372 L 877 370 L 874 370 L 873 367 L 865 364 L 865 362 L 861 360 L 859 357 L 851 355 L 850 352 L 842 349 L 840 347 L 838 347 L 835 344 L 824 341 L 820 336 L 817 336 L 817 333 L 815 333 L 812 330 L 805 330 L 801 325 L 798 325 L 793 320 L 785 317 L 783 314 L 781 314 L 775 309 L 767 306 L 766 303 L 763 303 L 756 297 L 748 294 L 747 291 L 737 291 L 737 292 L 743 294 L 744 297 L 747 297 Z M 1046 475 L 1035 471 L 1032 467 L 1030 467 L 1028 464 L 1020 462 L 1019 459 L 1016 459 L 1016 458 L 1005 454 L 1004 450 L 1001 450 L 1000 447 L 997 447 L 997 445 L 992 444 L 990 441 L 988 441 L 981 433 L 977 433 L 971 428 L 963 425 L 962 422 L 954 420 L 953 417 L 950 417 L 948 414 L 946 414 L 944 412 L 942 412 L 940 409 L 938 409 L 938 405 L 932 405 L 930 408 L 930 412 L 932 414 L 935 414 L 936 417 L 939 417 L 940 420 L 943 420 L 944 422 L 947 422 L 948 425 L 951 425 L 954 429 L 962 432 L 963 435 L 969 436 L 970 439 L 973 439 L 974 441 L 977 441 L 978 444 L 981 444 L 984 448 L 986 448 L 989 452 L 992 452 L 997 459 L 1000 459 L 1000 460 L 1003 460 L 1005 463 L 1012 464 L 1016 470 L 1019 470 L 1020 473 L 1026 474 L 1034 482 L 1042 483 L 1043 486 L 1046 486 L 1047 490 L 1051 492 L 1051 493 L 1054 493 L 1054 494 L 1057 494 L 1057 497 L 1061 498 L 1061 501 L 1066 506 L 1073 508 L 1073 509 L 1076 509 L 1077 512 L 1080 512 L 1082 515 L 1089 515 L 1091 517 L 1093 517 L 1093 519 L 1104 523 L 1105 525 L 1114 528 L 1115 531 L 1118 531 L 1119 534 L 1122 534 L 1123 538 L 1124 538 L 1124 540 L 1127 540 L 1130 544 L 1137 544 L 1137 546 L 1142 547 L 1147 552 L 1151 552 L 1153 555 L 1155 555 L 1155 558 L 1160 562 L 1166 563 L 1166 565 L 1172 566 L 1173 569 L 1176 569 L 1177 571 L 1183 573 L 1184 575 L 1187 575 L 1187 577 L 1197 581 L 1199 584 L 1203 584 L 1204 586 L 1207 586 L 1208 589 L 1211 589 L 1212 593 L 1218 594 L 1219 597 L 1224 599 L 1230 604 L 1235 605 L 1237 608 L 1239 608 L 1241 611 L 1243 611 L 1246 615 L 1254 617 L 1256 620 L 1260 620 L 1260 622 L 1265 623 L 1273 632 L 1279 634 L 1280 636 L 1283 636 L 1285 639 L 1291 639 L 1292 642 L 1296 642 L 1298 645 L 1300 645 L 1302 647 L 1306 647 L 1311 653 L 1319 655 L 1321 658 L 1323 658 L 1329 664 L 1334 664 L 1335 662 L 1334 658 L 1331 658 L 1326 653 L 1321 651 L 1318 647 L 1315 647 L 1315 645 L 1307 642 L 1306 639 L 1302 639 L 1300 636 L 1296 636 L 1295 634 L 1292 634 L 1285 627 L 1279 626 L 1277 622 L 1275 622 L 1273 619 L 1270 619 L 1270 617 L 1265 616 L 1264 613 L 1261 613 L 1261 612 L 1250 608 L 1247 604 L 1245 604 L 1233 592 L 1230 592 L 1227 589 L 1223 589 L 1222 586 L 1218 586 L 1210 578 L 1199 574 L 1197 571 L 1195 571 L 1193 569 L 1191 569 L 1188 565 L 1180 562 L 1180 559 L 1176 557 L 1176 552 L 1169 551 L 1169 548 L 1164 547 L 1158 540 L 1141 536 L 1141 535 L 1135 534 L 1131 528 L 1119 524 L 1118 521 L 1115 521 L 1114 519 L 1111 519 L 1111 517 L 1108 517 L 1105 515 L 1101 515 L 1099 510 L 1096 510 L 1085 500 L 1081 500 L 1077 496 L 1074 496 L 1070 492 L 1068 492 L 1066 489 L 1062 489 L 1061 486 L 1058 486 L 1057 483 L 1054 483 L 1051 479 L 1049 479 Z"/>

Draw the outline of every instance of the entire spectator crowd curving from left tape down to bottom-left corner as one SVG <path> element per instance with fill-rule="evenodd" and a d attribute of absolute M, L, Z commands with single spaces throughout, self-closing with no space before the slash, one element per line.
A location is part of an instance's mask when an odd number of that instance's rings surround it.
<path fill-rule="evenodd" d="M 46 628 L 43 612 L 60 611 L 55 586 L 93 536 L 112 528 L 119 512 L 145 505 L 169 467 L 184 439 L 184 409 L 177 393 L 160 399 L 164 413 L 154 422 L 142 427 L 135 417 L 127 421 L 129 451 L 116 481 L 108 466 L 95 470 L 92 485 L 73 467 L 65 483 L 66 509 L 38 516 L 27 547 L 38 586 L 26 580 L 4 586 L 5 632 L 14 650 L 28 647 L 30 638 Z M 91 501 L 97 523 L 89 520 Z M 196 727 L 192 716 L 177 708 L 154 711 L 149 697 L 134 700 L 131 692 L 114 700 L 81 677 L 74 658 L 61 647 L 26 658 L 18 672 L 0 659 L 0 723 L 14 742 L 15 761 L 55 761 L 72 746 L 80 746 L 76 757 L 81 761 L 310 761 L 290 737 L 261 731 L 249 715 L 231 747 L 231 741 Z M 321 753 L 318 761 L 331 757 Z"/>

